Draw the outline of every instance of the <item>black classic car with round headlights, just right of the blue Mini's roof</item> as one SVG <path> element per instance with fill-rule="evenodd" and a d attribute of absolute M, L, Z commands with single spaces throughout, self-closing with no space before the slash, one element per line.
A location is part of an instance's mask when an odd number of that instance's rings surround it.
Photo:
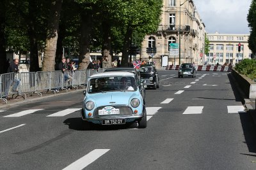
<path fill-rule="evenodd" d="M 151 64 L 145 64 L 140 66 L 140 76 L 143 80 L 145 88 L 153 87 L 154 89 L 159 88 L 159 76 L 156 70 L 156 66 Z"/>

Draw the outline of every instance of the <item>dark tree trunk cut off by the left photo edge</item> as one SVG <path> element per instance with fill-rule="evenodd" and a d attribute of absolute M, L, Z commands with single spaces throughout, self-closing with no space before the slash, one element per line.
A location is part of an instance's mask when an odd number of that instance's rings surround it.
<path fill-rule="evenodd" d="M 0 74 L 6 73 L 8 65 L 6 64 L 6 39 L 4 36 L 5 29 L 5 1 L 0 3 Z"/>

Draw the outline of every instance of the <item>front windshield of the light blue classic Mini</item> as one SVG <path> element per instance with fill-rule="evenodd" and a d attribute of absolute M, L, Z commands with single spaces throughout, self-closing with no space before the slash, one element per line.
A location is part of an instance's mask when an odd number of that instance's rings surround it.
<path fill-rule="evenodd" d="M 88 93 L 137 90 L 135 79 L 132 76 L 106 76 L 92 78 L 88 85 Z"/>

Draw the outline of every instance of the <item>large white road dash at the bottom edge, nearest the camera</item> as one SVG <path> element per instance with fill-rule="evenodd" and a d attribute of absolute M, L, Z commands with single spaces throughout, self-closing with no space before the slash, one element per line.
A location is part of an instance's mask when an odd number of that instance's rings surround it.
<path fill-rule="evenodd" d="M 84 169 L 84 167 L 88 166 L 89 164 L 92 164 L 92 162 L 94 162 L 96 159 L 98 159 L 108 151 L 109 149 L 93 150 L 87 155 L 84 155 L 84 157 L 81 157 L 81 159 L 78 159 L 76 160 L 76 162 L 73 162 L 69 166 L 65 167 L 63 170 Z"/>

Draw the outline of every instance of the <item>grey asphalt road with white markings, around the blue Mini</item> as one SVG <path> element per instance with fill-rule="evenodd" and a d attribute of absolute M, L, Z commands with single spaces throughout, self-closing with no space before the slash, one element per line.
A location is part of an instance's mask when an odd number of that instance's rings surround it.
<path fill-rule="evenodd" d="M 177 78 L 146 90 L 147 129 L 83 131 L 83 93 L 0 111 L 0 169 L 256 169 L 256 133 L 228 73 Z"/>

